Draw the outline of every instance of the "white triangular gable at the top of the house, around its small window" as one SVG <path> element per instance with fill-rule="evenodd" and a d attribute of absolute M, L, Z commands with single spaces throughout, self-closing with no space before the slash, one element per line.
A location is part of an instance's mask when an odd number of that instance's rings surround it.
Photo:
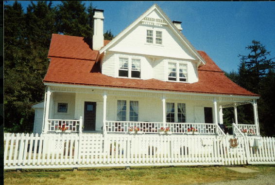
<path fill-rule="evenodd" d="M 144 43 L 146 43 L 147 28 L 153 29 L 154 31 L 165 31 L 165 35 L 163 36 L 165 45 L 162 44 L 162 46 L 159 46 L 152 44 L 151 47 L 144 45 Z M 100 50 L 100 54 L 106 50 L 192 59 L 199 60 L 204 64 L 206 63 L 156 4 L 123 30 L 109 44 L 103 47 Z"/>

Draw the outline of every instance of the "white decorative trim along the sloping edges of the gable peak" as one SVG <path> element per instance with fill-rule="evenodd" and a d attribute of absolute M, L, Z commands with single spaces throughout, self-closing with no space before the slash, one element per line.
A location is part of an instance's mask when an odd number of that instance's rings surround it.
<path fill-rule="evenodd" d="M 164 18 L 164 19 L 154 19 L 153 18 L 147 18 L 152 11 L 158 11 L 158 13 Z M 104 51 L 106 51 L 108 48 L 110 48 L 114 43 L 116 43 L 118 40 L 120 40 L 121 37 L 123 37 L 129 30 L 131 30 L 134 26 L 136 26 L 139 22 L 142 24 L 150 24 L 150 25 L 168 25 L 170 28 L 172 28 L 172 31 L 181 39 L 183 43 L 185 43 L 188 47 L 188 49 L 199 58 L 199 61 L 203 64 L 206 64 L 206 61 L 199 55 L 197 50 L 191 45 L 191 43 L 187 40 L 187 38 L 177 29 L 177 27 L 172 23 L 172 21 L 166 16 L 166 14 L 161 10 L 161 8 L 154 4 L 151 6 L 147 11 L 145 11 L 139 18 L 137 18 L 132 24 L 130 24 L 127 28 L 125 28 L 120 34 L 115 37 L 111 42 L 109 42 L 106 46 L 104 46 L 99 53 L 102 54 Z"/>

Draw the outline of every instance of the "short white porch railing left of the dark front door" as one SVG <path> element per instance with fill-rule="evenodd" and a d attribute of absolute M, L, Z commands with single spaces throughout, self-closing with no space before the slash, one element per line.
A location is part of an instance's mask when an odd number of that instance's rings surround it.
<path fill-rule="evenodd" d="M 54 132 L 57 127 L 65 126 L 68 127 L 68 130 L 71 132 L 78 132 L 81 119 L 48 119 L 48 132 Z"/>

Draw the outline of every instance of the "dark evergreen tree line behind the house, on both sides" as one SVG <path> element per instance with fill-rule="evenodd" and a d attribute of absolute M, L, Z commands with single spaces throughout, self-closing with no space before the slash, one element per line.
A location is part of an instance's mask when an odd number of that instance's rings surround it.
<path fill-rule="evenodd" d="M 4 121 L 5 131 L 32 132 L 32 105 L 44 100 L 42 83 L 49 61 L 47 58 L 52 33 L 91 39 L 93 35 L 93 7 L 81 1 L 62 1 L 52 6 L 50 1 L 31 2 L 24 12 L 15 1 L 4 6 Z M 111 31 L 104 38 L 113 38 Z M 91 40 L 90 40 L 91 41 Z M 247 55 L 239 55 L 237 72 L 226 73 L 241 87 L 260 94 L 258 117 L 260 132 L 275 136 L 275 71 L 274 58 L 259 41 L 246 47 Z M 225 125 L 231 125 L 234 111 L 224 109 Z M 238 106 L 238 121 L 254 124 L 251 105 Z"/>

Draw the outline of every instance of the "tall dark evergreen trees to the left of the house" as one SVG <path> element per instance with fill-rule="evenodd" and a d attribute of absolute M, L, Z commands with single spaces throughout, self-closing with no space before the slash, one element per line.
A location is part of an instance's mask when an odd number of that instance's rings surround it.
<path fill-rule="evenodd" d="M 42 83 L 49 65 L 53 33 L 93 36 L 93 6 L 81 1 L 31 2 L 23 11 L 20 2 L 4 5 L 4 122 L 5 131 L 32 132 L 32 105 L 44 100 Z M 112 39 L 111 31 L 104 33 Z"/>

